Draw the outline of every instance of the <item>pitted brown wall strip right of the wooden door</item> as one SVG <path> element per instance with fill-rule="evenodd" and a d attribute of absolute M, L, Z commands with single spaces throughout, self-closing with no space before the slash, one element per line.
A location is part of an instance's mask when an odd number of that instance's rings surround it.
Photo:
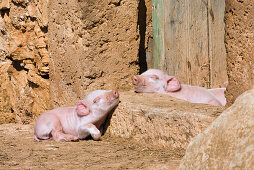
<path fill-rule="evenodd" d="M 227 105 L 254 84 L 254 1 L 226 0 Z"/>

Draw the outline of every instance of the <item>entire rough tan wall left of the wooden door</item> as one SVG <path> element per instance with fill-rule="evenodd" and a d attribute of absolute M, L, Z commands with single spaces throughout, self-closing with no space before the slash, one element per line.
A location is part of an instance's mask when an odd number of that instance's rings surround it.
<path fill-rule="evenodd" d="M 0 0 L 0 13 L 0 123 L 130 89 L 152 67 L 151 0 Z"/>

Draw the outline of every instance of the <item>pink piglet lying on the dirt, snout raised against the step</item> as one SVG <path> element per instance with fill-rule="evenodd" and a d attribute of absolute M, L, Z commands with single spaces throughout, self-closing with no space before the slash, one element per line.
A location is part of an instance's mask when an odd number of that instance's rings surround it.
<path fill-rule="evenodd" d="M 60 107 L 43 113 L 36 121 L 34 139 L 77 141 L 91 135 L 98 140 L 101 125 L 118 103 L 116 90 L 92 91 L 75 107 Z"/>

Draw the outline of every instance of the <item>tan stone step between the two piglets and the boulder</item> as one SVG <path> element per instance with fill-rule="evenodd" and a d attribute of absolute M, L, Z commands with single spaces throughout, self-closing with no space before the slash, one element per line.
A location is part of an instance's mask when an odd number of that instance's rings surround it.
<path fill-rule="evenodd" d="M 193 104 L 154 93 L 120 93 L 106 134 L 167 147 L 183 156 L 189 142 L 223 112 L 224 107 Z"/>

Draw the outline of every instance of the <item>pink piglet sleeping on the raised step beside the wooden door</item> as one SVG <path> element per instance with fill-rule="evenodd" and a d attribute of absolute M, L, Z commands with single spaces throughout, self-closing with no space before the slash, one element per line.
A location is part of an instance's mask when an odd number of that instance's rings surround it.
<path fill-rule="evenodd" d="M 161 70 L 149 69 L 141 75 L 133 76 L 132 83 L 136 92 L 162 93 L 191 103 L 206 103 L 221 106 L 222 103 L 207 89 L 180 84 L 174 76 Z"/>

